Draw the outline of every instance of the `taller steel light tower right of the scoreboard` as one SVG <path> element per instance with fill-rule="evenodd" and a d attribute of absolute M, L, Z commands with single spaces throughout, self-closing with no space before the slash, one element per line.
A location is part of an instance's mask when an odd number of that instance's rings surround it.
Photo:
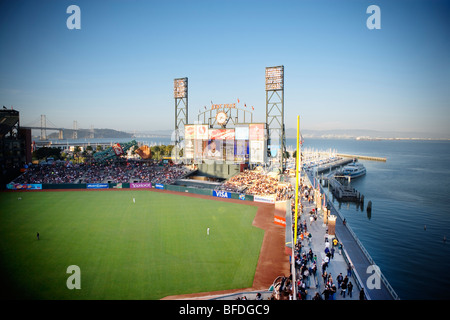
<path fill-rule="evenodd" d="M 266 124 L 271 164 L 284 171 L 284 66 L 266 68 Z"/>

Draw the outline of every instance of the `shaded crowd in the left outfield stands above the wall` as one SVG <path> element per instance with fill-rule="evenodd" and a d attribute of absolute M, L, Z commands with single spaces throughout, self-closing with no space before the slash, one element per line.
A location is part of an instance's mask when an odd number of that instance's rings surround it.
<path fill-rule="evenodd" d="M 53 163 L 30 165 L 12 183 L 17 184 L 59 184 L 59 183 L 133 183 L 152 182 L 172 184 L 176 179 L 188 174 L 190 169 L 182 165 L 159 166 L 155 163 L 92 162 Z"/>

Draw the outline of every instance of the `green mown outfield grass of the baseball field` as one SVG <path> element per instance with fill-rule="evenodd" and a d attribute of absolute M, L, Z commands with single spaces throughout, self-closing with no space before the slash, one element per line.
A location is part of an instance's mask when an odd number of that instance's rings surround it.
<path fill-rule="evenodd" d="M 247 288 L 264 236 L 252 226 L 254 206 L 145 190 L 1 193 L 0 204 L 0 290 L 9 298 Z M 80 290 L 66 286 L 70 265 L 80 267 Z"/>

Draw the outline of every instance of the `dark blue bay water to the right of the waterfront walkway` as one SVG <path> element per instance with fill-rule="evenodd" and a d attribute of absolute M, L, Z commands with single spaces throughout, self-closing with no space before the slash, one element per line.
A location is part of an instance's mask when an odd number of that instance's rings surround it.
<path fill-rule="evenodd" d="M 303 147 L 386 158 L 359 160 L 367 174 L 351 185 L 364 207 L 329 199 L 400 299 L 449 299 L 450 141 L 305 139 Z"/>

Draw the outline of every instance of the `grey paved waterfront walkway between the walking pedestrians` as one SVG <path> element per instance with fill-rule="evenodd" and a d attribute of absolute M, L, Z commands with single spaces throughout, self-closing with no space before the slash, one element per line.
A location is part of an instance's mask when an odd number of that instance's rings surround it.
<path fill-rule="evenodd" d="M 327 237 L 327 226 L 323 223 L 323 215 L 319 210 L 319 214 L 316 220 L 310 222 L 310 212 L 315 209 L 314 202 L 309 203 L 306 199 L 303 199 L 299 196 L 299 201 L 303 204 L 303 213 L 299 211 L 298 224 L 306 222 L 307 232 L 311 233 L 312 237 L 310 240 L 305 238 L 301 241 L 302 249 L 301 253 L 308 253 L 311 249 L 313 254 L 317 256 L 317 272 L 316 276 L 310 276 L 309 288 L 307 288 L 307 300 L 311 300 L 316 293 L 318 292 L 321 295 L 321 298 L 324 299 L 324 290 L 325 283 L 322 278 L 322 261 L 325 260 L 325 238 Z M 330 243 L 329 248 L 333 247 L 332 242 Z M 344 259 L 342 252 L 339 252 L 338 247 L 334 247 L 335 253 L 334 256 L 329 260 L 328 267 L 326 268 L 326 273 L 331 274 L 333 279 L 333 283 L 336 286 L 336 294 L 334 295 L 333 300 L 358 300 L 359 299 L 359 289 L 354 279 L 353 275 L 350 274 L 348 277 L 349 283 L 353 284 L 353 290 L 351 295 L 348 291 L 345 294 L 345 297 L 341 295 L 341 288 L 339 287 L 337 276 L 341 273 L 343 277 L 347 275 L 347 262 Z"/>

